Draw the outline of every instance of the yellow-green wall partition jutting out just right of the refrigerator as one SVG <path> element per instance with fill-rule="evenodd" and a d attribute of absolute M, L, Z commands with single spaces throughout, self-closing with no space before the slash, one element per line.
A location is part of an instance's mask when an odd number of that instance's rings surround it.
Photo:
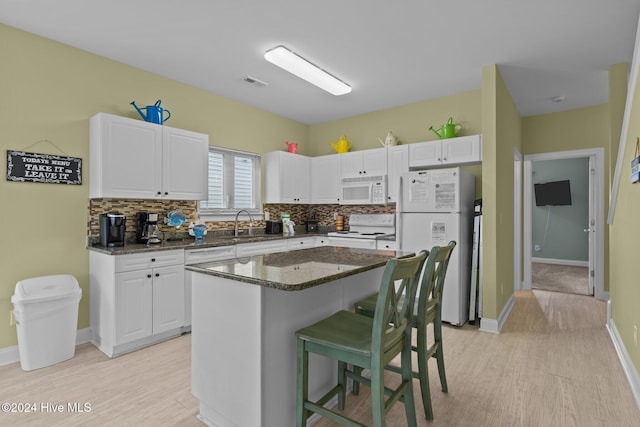
<path fill-rule="evenodd" d="M 520 115 L 497 66 L 482 69 L 483 315 L 498 319 L 513 295 L 513 149 Z"/>

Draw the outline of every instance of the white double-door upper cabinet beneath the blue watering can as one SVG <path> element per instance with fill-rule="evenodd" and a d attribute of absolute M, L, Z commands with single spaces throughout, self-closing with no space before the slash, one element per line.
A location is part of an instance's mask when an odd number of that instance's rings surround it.
<path fill-rule="evenodd" d="M 100 113 L 90 122 L 89 197 L 204 200 L 209 136 Z"/>

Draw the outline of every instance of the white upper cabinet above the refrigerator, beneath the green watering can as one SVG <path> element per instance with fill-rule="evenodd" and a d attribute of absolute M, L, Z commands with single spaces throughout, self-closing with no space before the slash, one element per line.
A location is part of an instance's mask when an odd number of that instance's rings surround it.
<path fill-rule="evenodd" d="M 409 144 L 409 167 L 452 166 L 482 161 L 481 135 Z"/>

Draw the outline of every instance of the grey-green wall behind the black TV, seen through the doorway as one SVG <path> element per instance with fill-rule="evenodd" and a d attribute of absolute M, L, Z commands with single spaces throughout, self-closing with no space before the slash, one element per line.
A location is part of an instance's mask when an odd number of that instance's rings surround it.
<path fill-rule="evenodd" d="M 589 158 L 539 160 L 531 162 L 532 256 L 538 258 L 589 261 Z M 571 205 L 536 206 L 533 186 L 568 179 Z M 539 250 L 535 250 L 538 246 Z"/>

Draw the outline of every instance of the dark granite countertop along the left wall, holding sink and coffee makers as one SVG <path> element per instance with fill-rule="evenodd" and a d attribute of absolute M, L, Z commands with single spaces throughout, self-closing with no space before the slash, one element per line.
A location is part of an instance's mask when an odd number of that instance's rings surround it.
<path fill-rule="evenodd" d="M 141 243 L 125 243 L 124 246 L 117 248 L 105 248 L 100 245 L 87 246 L 88 250 L 104 253 L 107 255 L 127 255 L 140 252 L 165 251 L 172 249 L 200 249 L 212 248 L 216 246 L 230 246 L 240 243 L 265 242 L 269 240 L 282 239 L 299 239 L 303 237 L 327 237 L 325 233 L 298 233 L 293 236 L 288 234 L 255 234 L 252 236 L 243 235 L 241 237 L 233 237 L 232 235 L 215 235 L 207 234 L 203 240 L 196 241 L 194 237 L 188 236 L 183 240 L 163 240 L 162 243 L 154 245 L 145 245 Z"/>

